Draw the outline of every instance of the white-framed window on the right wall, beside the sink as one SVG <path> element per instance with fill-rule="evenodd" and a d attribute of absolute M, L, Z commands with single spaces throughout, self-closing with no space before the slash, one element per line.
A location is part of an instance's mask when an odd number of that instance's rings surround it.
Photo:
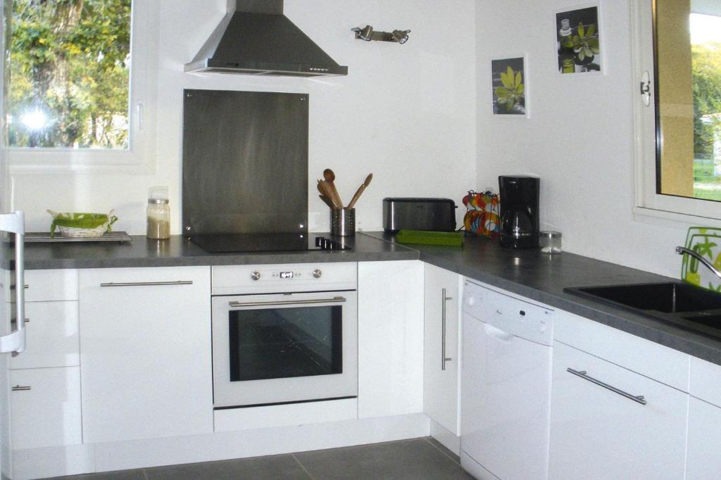
<path fill-rule="evenodd" d="M 721 219 L 721 2 L 636 0 L 634 25 L 637 212 Z"/>

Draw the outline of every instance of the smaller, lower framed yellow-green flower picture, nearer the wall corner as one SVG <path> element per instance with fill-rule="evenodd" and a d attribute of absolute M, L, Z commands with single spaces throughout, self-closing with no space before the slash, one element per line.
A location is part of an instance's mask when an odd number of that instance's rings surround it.
<path fill-rule="evenodd" d="M 495 115 L 528 116 L 525 57 L 492 60 L 491 88 Z"/>

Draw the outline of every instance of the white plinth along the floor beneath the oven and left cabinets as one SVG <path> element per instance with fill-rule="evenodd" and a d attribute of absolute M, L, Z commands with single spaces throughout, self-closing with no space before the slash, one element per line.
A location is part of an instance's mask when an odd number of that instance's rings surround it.
<path fill-rule="evenodd" d="M 430 435 L 425 414 L 14 450 L 14 480 L 322 450 Z"/>

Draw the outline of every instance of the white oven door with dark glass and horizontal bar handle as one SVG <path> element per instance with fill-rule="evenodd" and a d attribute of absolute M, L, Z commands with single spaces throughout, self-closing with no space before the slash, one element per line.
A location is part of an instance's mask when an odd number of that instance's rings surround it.
<path fill-rule="evenodd" d="M 216 407 L 355 396 L 354 291 L 213 298 Z"/>

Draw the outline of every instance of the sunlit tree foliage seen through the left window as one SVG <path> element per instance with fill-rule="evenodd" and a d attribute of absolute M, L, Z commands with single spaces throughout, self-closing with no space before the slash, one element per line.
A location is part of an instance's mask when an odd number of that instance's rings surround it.
<path fill-rule="evenodd" d="M 127 148 L 130 35 L 131 0 L 14 0 L 11 145 Z"/>

